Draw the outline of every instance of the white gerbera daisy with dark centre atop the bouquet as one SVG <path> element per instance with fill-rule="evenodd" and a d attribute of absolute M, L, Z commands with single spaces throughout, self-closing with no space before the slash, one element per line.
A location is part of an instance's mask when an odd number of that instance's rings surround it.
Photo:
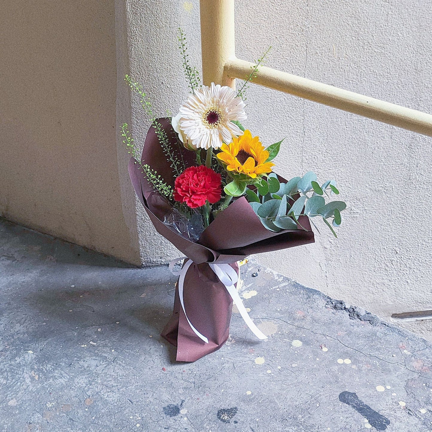
<path fill-rule="evenodd" d="M 215 83 L 210 87 L 202 86 L 190 95 L 178 115 L 182 138 L 197 149 L 218 149 L 222 143 L 231 143 L 233 137 L 241 135 L 240 128 L 232 120 L 247 118 L 245 103 L 235 96 L 235 91 Z"/>

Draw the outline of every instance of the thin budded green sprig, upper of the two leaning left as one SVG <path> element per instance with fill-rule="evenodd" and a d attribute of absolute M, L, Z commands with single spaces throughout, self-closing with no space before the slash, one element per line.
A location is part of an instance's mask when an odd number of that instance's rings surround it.
<path fill-rule="evenodd" d="M 124 80 L 128 83 L 129 87 L 140 95 L 140 104 L 143 107 L 147 117 L 152 123 L 152 127 L 155 128 L 156 135 L 158 137 L 159 143 L 162 147 L 162 151 L 166 156 L 168 162 L 170 162 L 170 166 L 174 171 L 176 177 L 178 177 L 185 169 L 184 161 L 179 160 L 176 156 L 174 149 L 172 148 L 167 133 L 163 129 L 162 125 L 157 121 L 156 115 L 153 112 L 153 106 L 150 102 L 149 97 L 143 90 L 143 86 L 140 83 L 134 82 L 129 75 L 124 76 Z"/>

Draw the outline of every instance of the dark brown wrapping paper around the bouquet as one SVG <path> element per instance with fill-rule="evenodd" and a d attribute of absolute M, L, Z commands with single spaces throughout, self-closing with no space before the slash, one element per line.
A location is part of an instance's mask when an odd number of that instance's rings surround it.
<path fill-rule="evenodd" d="M 160 119 L 159 122 L 166 130 L 172 147 L 179 156 L 183 156 L 186 166 L 195 165 L 195 153 L 178 145 L 169 120 Z M 172 168 L 153 127 L 147 133 L 141 160 L 155 169 L 167 184 L 174 186 Z M 194 261 L 184 280 L 184 306 L 191 323 L 208 338 L 209 343 L 197 337 L 189 326 L 180 305 L 178 289 L 172 318 L 162 331 L 162 337 L 177 346 L 176 359 L 193 362 L 219 349 L 229 336 L 232 299 L 207 263 L 230 264 L 237 270 L 236 261 L 250 254 L 313 243 L 314 234 L 306 216 L 301 216 L 299 222 L 308 231 L 271 232 L 261 224 L 246 198 L 240 197 L 219 213 L 195 243 L 163 224 L 164 216 L 172 211 L 172 205 L 154 191 L 139 167 L 131 158 L 128 166 L 130 179 L 156 231 Z M 280 181 L 286 180 L 280 177 Z"/>

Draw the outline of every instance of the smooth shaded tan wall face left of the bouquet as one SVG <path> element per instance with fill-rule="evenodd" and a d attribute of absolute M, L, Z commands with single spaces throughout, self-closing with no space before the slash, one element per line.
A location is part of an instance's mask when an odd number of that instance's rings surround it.
<path fill-rule="evenodd" d="M 118 169 L 114 1 L 5 0 L 0 41 L 0 215 L 140 264 Z"/>

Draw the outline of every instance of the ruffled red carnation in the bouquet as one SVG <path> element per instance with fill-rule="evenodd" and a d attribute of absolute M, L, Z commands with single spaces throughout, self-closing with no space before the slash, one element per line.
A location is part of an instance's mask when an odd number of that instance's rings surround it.
<path fill-rule="evenodd" d="M 222 193 L 221 176 L 204 165 L 186 168 L 174 183 L 174 199 L 186 203 L 191 209 L 206 201 L 217 203 Z"/>

